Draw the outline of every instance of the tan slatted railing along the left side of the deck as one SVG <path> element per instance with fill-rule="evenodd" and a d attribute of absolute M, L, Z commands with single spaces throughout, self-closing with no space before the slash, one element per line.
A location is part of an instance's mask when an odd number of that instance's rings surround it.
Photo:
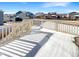
<path fill-rule="evenodd" d="M 1 27 L 0 31 L 0 43 L 7 40 L 14 40 L 23 34 L 30 33 L 31 26 L 33 25 L 32 20 L 9 23 L 9 26 Z"/>

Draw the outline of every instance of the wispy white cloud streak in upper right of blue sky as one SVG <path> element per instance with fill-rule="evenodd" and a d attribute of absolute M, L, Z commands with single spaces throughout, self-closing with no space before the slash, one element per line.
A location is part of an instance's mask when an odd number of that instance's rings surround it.
<path fill-rule="evenodd" d="M 70 4 L 70 2 L 48 2 L 42 5 L 42 7 L 53 7 L 53 6 L 62 6 L 62 7 L 66 7 Z"/>

